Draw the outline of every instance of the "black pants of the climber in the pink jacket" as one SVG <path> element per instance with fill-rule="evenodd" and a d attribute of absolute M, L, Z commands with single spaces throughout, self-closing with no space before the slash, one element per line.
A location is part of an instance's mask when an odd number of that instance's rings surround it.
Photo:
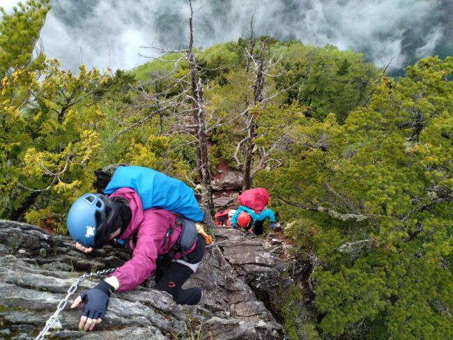
<path fill-rule="evenodd" d="M 197 246 L 187 254 L 188 263 L 199 263 L 204 256 L 206 243 L 201 235 L 198 235 Z M 177 304 L 197 304 L 201 300 L 201 289 L 198 287 L 183 289 L 183 284 L 194 272 L 183 263 L 171 262 L 166 272 L 160 268 L 155 271 L 155 288 L 166 291 L 173 297 Z"/>

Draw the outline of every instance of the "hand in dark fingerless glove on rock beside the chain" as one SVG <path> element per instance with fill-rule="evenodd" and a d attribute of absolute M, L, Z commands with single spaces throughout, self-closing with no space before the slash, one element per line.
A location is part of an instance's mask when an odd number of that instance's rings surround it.
<path fill-rule="evenodd" d="M 102 322 L 107 307 L 109 306 L 110 295 L 114 291 L 114 287 L 106 281 L 100 281 L 98 286 L 84 291 L 77 297 L 71 305 L 71 308 L 79 306 L 80 302 L 85 302 L 84 311 L 79 322 L 79 329 L 87 331 L 93 330 L 97 323 Z"/>

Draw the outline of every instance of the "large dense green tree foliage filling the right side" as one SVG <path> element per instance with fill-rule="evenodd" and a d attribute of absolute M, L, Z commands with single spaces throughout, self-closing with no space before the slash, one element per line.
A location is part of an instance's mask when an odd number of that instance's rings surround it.
<path fill-rule="evenodd" d="M 452 72 L 453 58 L 422 59 L 399 82 L 383 79 L 344 125 L 296 122 L 289 160 L 261 176 L 314 224 L 314 235 L 307 222 L 288 234 L 311 240 L 322 263 L 326 337 L 453 337 Z"/>

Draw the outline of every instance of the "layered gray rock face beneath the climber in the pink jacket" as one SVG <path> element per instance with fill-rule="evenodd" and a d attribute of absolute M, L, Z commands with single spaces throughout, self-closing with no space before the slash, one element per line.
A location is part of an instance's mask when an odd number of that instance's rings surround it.
<path fill-rule="evenodd" d="M 148 279 L 139 288 L 114 293 L 105 320 L 95 332 L 79 332 L 81 309 L 69 308 L 77 293 L 95 286 L 83 281 L 59 315 L 52 339 L 285 339 L 266 309 L 266 294 L 291 283 L 286 266 L 263 241 L 240 231 L 213 229 L 217 245 L 185 286 L 200 286 L 197 306 L 181 306 Z M 70 238 L 36 226 L 0 220 L 0 339 L 33 339 L 68 288 L 84 272 L 115 268 L 130 254 L 107 246 L 82 254 Z M 265 303 L 257 299 L 261 297 Z"/>

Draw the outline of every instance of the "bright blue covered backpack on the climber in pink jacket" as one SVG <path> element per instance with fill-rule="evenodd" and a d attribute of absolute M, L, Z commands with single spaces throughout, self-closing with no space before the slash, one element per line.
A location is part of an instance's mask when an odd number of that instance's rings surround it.
<path fill-rule="evenodd" d="M 118 167 L 105 188 L 112 194 L 121 187 L 130 187 L 139 195 L 143 209 L 160 208 L 176 212 L 192 221 L 201 221 L 203 211 L 194 191 L 181 180 L 145 167 Z"/>

